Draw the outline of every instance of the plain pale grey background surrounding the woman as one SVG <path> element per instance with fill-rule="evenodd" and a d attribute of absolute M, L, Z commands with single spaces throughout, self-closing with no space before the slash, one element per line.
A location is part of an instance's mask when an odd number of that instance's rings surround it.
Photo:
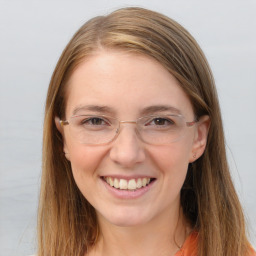
<path fill-rule="evenodd" d="M 197 39 L 215 75 L 227 152 L 256 246 L 255 0 L 0 0 L 0 255 L 35 252 L 43 108 L 64 46 L 87 19 L 130 5 Z"/>

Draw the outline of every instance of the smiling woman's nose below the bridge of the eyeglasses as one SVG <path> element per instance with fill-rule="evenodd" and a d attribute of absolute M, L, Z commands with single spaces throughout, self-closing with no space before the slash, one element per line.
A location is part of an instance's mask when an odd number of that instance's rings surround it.
<path fill-rule="evenodd" d="M 120 129 L 112 142 L 110 158 L 125 168 L 131 168 L 145 160 L 145 151 L 133 124 L 122 124 Z"/>

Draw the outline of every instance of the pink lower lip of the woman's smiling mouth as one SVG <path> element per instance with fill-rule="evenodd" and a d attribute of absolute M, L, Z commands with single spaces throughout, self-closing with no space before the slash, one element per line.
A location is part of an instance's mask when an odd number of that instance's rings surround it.
<path fill-rule="evenodd" d="M 110 186 L 105 180 L 101 179 L 106 189 L 115 197 L 120 199 L 136 199 L 146 194 L 154 185 L 156 180 L 151 181 L 146 187 L 141 187 L 136 190 L 117 189 Z"/>

